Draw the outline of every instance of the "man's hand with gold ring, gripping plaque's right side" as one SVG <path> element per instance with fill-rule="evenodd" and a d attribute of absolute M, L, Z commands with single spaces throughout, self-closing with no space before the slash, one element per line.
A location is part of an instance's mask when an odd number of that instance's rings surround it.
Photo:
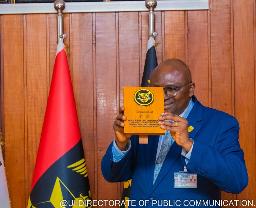
<path fill-rule="evenodd" d="M 171 136 L 176 141 L 177 145 L 182 146 L 188 152 L 191 149 L 193 142 L 189 139 L 187 119 L 165 112 L 161 113 L 159 120 L 158 124 L 160 127 L 170 131 Z"/>

